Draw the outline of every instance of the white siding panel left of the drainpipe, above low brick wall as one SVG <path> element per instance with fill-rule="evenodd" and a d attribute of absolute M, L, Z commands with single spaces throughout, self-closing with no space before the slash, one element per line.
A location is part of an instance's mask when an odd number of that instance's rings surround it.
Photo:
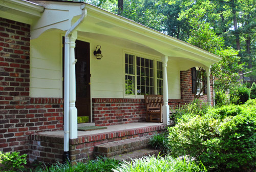
<path fill-rule="evenodd" d="M 60 32 L 48 31 L 30 44 L 30 97 L 62 97 Z"/>

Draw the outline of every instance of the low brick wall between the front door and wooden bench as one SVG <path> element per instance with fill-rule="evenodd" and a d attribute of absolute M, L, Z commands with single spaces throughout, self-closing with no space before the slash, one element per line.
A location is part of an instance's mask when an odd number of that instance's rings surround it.
<path fill-rule="evenodd" d="M 144 99 L 93 98 L 93 121 L 98 126 L 145 121 Z"/>

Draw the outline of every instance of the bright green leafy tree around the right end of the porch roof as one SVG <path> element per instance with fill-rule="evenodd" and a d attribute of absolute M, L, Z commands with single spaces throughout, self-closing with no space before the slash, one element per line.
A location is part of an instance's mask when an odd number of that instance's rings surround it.
<path fill-rule="evenodd" d="M 242 65 L 238 65 L 240 60 L 240 57 L 237 56 L 238 51 L 232 48 L 225 48 L 223 37 L 217 36 L 209 23 L 200 21 L 201 15 L 203 14 L 198 12 L 194 18 L 190 19 L 192 29 L 190 30 L 190 37 L 187 39 L 187 42 L 222 57 L 222 60 L 212 65 L 211 84 L 217 78 L 215 89 L 227 90 L 233 85 L 238 84 L 239 75 L 237 70 L 242 69 Z M 198 71 L 195 88 L 198 88 L 199 80 L 205 78 L 206 75 L 203 68 L 199 68 Z M 206 82 L 203 82 L 200 93 L 203 92 L 205 86 Z M 194 94 L 195 98 L 200 96 L 201 94 Z"/>

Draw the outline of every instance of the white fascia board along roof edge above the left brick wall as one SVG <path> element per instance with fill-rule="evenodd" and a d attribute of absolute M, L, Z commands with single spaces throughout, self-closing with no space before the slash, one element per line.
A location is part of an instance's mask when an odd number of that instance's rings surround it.
<path fill-rule="evenodd" d="M 34 17 L 40 17 L 41 12 L 45 9 L 35 3 L 22 0 L 0 0 L 0 6 L 23 12 Z"/>

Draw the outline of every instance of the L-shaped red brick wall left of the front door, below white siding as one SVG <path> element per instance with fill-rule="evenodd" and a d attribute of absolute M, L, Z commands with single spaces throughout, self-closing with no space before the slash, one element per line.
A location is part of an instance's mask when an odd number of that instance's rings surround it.
<path fill-rule="evenodd" d="M 29 135 L 62 130 L 61 98 L 30 98 L 30 25 L 0 17 L 0 151 L 28 154 Z"/>

